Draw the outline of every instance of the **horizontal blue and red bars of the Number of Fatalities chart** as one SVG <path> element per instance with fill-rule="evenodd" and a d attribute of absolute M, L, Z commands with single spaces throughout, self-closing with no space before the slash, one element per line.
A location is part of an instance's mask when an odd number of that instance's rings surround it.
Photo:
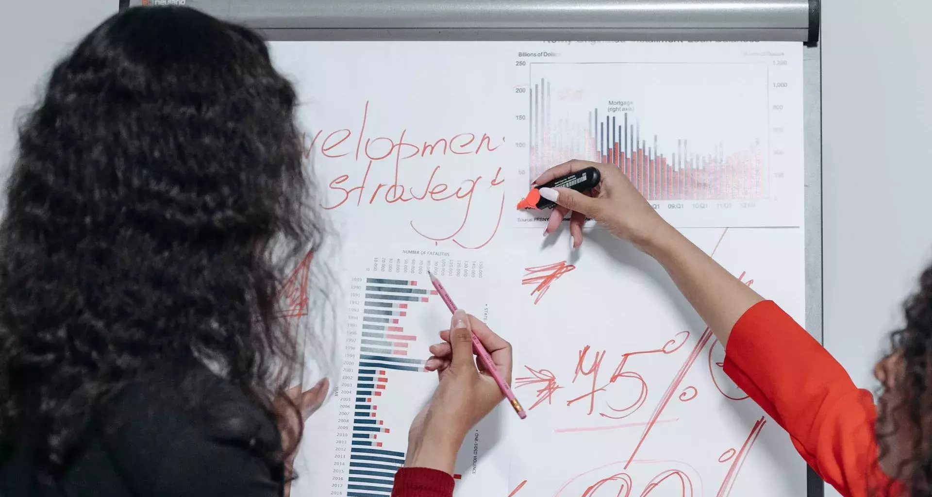
<path fill-rule="evenodd" d="M 410 423 L 399 420 L 391 407 L 404 402 L 412 376 L 431 375 L 424 371 L 427 354 L 419 352 L 429 344 L 408 328 L 413 317 L 408 313 L 439 297 L 426 277 L 367 277 L 359 283 L 353 287 L 363 305 L 346 495 L 381 497 L 391 495 L 395 472 L 404 465 Z M 379 409 L 383 401 L 389 411 Z M 398 436 L 391 436 L 392 430 Z"/>

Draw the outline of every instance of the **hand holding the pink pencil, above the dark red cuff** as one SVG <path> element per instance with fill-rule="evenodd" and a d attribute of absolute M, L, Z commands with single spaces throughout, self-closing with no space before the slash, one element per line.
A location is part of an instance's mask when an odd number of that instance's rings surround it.
<path fill-rule="evenodd" d="M 476 364 L 472 333 L 511 384 L 512 346 L 466 312 L 453 314 L 450 330 L 440 332 L 445 341 L 431 346 L 433 356 L 425 365 L 427 370 L 437 371 L 440 384 L 411 423 L 405 466 L 439 469 L 452 475 L 463 438 L 504 398 L 486 368 Z"/>

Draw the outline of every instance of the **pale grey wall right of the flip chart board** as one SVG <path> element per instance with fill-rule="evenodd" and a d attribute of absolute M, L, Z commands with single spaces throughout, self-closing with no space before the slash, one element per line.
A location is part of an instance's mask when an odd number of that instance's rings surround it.
<path fill-rule="evenodd" d="M 932 3 L 822 9 L 825 345 L 873 389 L 871 366 L 932 260 Z"/>

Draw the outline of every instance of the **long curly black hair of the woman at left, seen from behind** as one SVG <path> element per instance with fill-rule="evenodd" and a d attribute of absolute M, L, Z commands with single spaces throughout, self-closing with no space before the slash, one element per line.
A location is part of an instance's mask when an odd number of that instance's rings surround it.
<path fill-rule="evenodd" d="M 31 426 L 61 469 L 109 395 L 204 364 L 294 414 L 276 294 L 322 241 L 295 104 L 258 35 L 185 7 L 124 10 L 55 66 L 0 224 L 0 442 Z"/>

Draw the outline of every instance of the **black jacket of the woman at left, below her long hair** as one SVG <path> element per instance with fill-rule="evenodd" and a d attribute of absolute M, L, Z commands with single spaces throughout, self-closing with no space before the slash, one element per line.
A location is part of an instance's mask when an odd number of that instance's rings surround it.
<path fill-rule="evenodd" d="M 264 456 L 281 445 L 275 423 L 206 369 L 185 381 L 155 376 L 117 393 L 59 476 L 36 471 L 23 436 L 0 454 L 0 497 L 280 497 L 283 466 Z"/>

